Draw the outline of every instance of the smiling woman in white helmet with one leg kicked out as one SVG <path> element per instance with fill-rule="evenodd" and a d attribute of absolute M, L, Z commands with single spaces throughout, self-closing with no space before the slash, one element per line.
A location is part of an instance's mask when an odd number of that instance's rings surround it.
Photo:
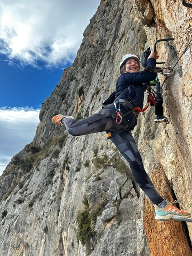
<path fill-rule="evenodd" d="M 156 54 L 152 51 L 147 60 L 147 67 L 155 66 L 156 59 L 157 51 Z M 190 213 L 179 210 L 158 194 L 144 170 L 137 145 L 130 133 L 137 124 L 134 107 L 143 107 L 143 83 L 148 83 L 157 76 L 149 71 L 139 72 L 139 69 L 139 58 L 134 54 L 126 54 L 120 62 L 121 75 L 116 83 L 115 100 L 113 99 L 112 104 L 107 104 L 111 103 L 110 100 L 106 101 L 107 105 L 103 109 L 81 121 L 75 121 L 72 116 L 57 115 L 52 118 L 52 122 L 57 125 L 64 124 L 73 136 L 106 131 L 107 138 L 110 138 L 129 162 L 135 181 L 154 204 L 155 219 L 162 221 L 173 216 L 191 217 Z"/>

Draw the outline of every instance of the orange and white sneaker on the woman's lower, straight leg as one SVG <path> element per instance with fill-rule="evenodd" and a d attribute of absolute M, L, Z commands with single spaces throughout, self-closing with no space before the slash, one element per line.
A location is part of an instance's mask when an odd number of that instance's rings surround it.
<path fill-rule="evenodd" d="M 178 203 L 178 200 L 175 200 L 173 203 Z M 180 217 L 184 219 L 191 217 L 191 213 L 187 213 L 178 209 L 177 207 L 173 206 L 173 203 L 166 201 L 166 205 L 163 208 L 160 208 L 158 205 L 154 204 L 156 213 L 155 219 L 158 221 L 166 221 L 172 217 Z"/>

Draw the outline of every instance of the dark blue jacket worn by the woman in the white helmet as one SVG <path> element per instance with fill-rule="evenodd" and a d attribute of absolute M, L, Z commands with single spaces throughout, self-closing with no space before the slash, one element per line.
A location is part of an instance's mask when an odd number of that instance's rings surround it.
<path fill-rule="evenodd" d="M 147 67 L 155 67 L 154 58 L 149 58 L 147 60 Z M 144 102 L 144 87 L 142 83 L 150 82 L 157 77 L 157 73 L 149 72 L 149 71 L 140 71 L 135 73 L 124 73 L 120 75 L 116 83 L 115 89 L 115 99 L 125 90 L 127 87 L 127 91 L 123 93 L 123 95 L 118 98 L 125 99 L 131 101 L 132 105 L 135 107 L 143 108 Z"/>

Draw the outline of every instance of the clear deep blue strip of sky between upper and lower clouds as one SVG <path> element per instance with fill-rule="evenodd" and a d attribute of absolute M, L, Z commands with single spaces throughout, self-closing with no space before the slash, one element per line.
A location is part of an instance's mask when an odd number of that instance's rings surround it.
<path fill-rule="evenodd" d="M 4 57 L 4 56 L 3 56 Z M 5 58 L 5 57 L 4 57 Z M 41 64 L 43 67 L 43 63 Z M 23 68 L 10 66 L 0 59 L 0 108 L 4 106 L 33 106 L 40 108 L 62 76 L 62 68 Z"/>

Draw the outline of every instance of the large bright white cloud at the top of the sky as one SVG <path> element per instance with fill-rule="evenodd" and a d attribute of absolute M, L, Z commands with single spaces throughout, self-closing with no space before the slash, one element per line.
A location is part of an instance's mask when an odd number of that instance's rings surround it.
<path fill-rule="evenodd" d="M 36 66 L 72 62 L 100 0 L 1 0 L 0 53 Z"/>

